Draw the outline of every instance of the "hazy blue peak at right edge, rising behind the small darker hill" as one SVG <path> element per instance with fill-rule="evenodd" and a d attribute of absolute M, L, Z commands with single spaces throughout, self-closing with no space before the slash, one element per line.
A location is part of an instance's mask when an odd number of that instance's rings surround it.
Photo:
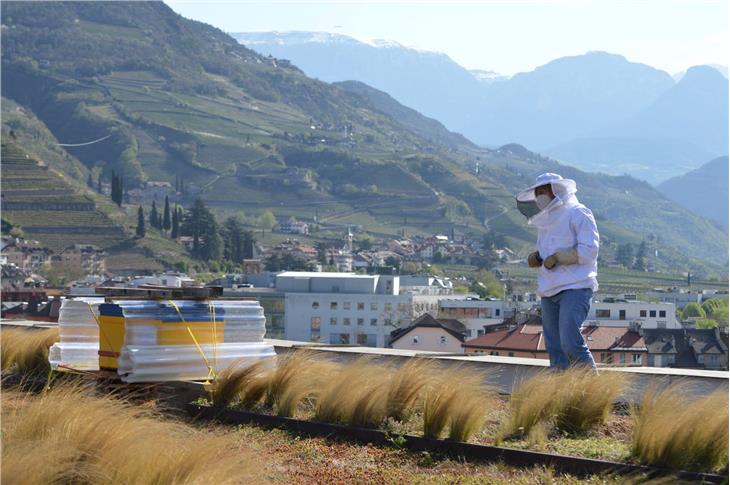
<path fill-rule="evenodd" d="M 727 79 L 714 68 L 693 67 L 635 115 L 545 152 L 583 169 L 658 183 L 727 153 L 727 107 Z"/>

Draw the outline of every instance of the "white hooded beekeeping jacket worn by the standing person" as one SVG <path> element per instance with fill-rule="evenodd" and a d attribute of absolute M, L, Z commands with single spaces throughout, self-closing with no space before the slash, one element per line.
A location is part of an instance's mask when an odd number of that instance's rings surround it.
<path fill-rule="evenodd" d="M 570 182 L 570 183 L 567 183 Z M 575 248 L 578 264 L 558 264 L 538 269 L 537 293 L 549 297 L 563 290 L 598 289 L 599 235 L 593 213 L 575 196 L 575 182 L 568 179 L 550 183 L 555 198 L 528 220 L 537 228 L 537 250 L 544 260 L 560 249 Z"/>

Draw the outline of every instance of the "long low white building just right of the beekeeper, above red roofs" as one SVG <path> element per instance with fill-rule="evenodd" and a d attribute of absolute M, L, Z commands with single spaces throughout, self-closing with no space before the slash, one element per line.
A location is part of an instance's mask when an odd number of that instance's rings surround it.
<path fill-rule="evenodd" d="M 594 301 L 584 326 L 623 327 L 635 322 L 642 328 L 682 328 L 674 303 L 648 303 L 636 300 Z"/>

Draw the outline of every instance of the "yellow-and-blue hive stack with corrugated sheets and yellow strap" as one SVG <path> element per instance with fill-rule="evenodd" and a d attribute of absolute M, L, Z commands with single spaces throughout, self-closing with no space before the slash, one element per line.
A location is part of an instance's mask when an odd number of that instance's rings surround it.
<path fill-rule="evenodd" d="M 100 367 L 125 382 L 210 379 L 275 355 L 256 301 L 118 300 L 99 309 Z"/>

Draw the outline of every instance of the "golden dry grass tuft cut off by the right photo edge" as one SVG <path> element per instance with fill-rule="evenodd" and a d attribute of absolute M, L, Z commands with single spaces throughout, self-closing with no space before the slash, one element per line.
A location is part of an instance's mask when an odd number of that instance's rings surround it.
<path fill-rule="evenodd" d="M 728 395 L 715 391 L 690 402 L 686 386 L 649 388 L 634 408 L 631 451 L 642 463 L 684 470 L 728 464 Z"/>

